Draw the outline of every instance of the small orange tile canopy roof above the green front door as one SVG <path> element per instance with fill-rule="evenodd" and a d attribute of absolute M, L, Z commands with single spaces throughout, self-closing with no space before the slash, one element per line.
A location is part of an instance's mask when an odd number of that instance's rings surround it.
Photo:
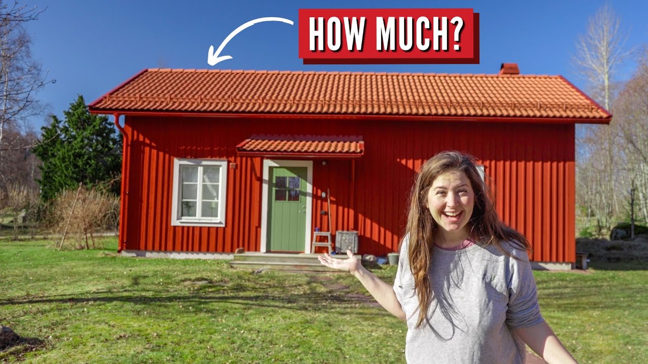
<path fill-rule="evenodd" d="M 361 157 L 364 141 L 356 136 L 252 135 L 237 145 L 239 155 L 321 155 Z"/>

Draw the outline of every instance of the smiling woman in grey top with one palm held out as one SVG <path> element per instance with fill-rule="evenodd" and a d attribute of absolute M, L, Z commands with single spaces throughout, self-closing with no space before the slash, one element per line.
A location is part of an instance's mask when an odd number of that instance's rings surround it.
<path fill-rule="evenodd" d="M 545 323 L 529 243 L 494 209 L 474 157 L 442 152 L 424 163 L 410 196 L 393 286 L 360 260 L 329 255 L 408 324 L 408 363 L 524 363 L 525 344 L 549 363 L 575 363 Z"/>

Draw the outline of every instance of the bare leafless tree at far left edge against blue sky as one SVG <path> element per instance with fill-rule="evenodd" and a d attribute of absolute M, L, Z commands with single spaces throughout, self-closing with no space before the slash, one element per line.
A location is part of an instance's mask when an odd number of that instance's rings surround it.
<path fill-rule="evenodd" d="M 17 0 L 0 0 L 0 188 L 7 185 L 5 166 L 10 159 L 6 150 L 29 148 L 21 138 L 29 117 L 40 115 L 43 107 L 36 98 L 41 87 L 53 82 L 43 74 L 39 63 L 32 60 L 32 40 L 25 25 L 38 19 L 41 11 L 19 5 Z M 9 135 L 8 130 L 17 131 Z"/>

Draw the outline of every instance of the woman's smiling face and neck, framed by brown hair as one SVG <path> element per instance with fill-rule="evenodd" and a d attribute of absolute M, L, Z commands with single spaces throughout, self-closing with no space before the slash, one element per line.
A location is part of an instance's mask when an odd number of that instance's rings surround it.
<path fill-rule="evenodd" d="M 426 207 L 437 223 L 437 233 L 446 242 L 468 237 L 475 194 L 464 172 L 452 170 L 439 175 L 428 191 Z"/>

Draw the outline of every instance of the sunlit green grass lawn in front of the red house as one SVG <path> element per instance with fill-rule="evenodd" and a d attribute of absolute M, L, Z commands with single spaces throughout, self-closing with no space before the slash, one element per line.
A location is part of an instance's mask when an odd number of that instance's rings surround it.
<path fill-rule="evenodd" d="M 0 324 L 14 363 L 403 363 L 406 326 L 343 274 L 122 258 L 0 240 Z M 648 264 L 536 272 L 547 321 L 581 363 L 648 360 Z M 395 269 L 375 271 L 393 280 Z M 347 288 L 348 287 L 348 288 Z"/>

